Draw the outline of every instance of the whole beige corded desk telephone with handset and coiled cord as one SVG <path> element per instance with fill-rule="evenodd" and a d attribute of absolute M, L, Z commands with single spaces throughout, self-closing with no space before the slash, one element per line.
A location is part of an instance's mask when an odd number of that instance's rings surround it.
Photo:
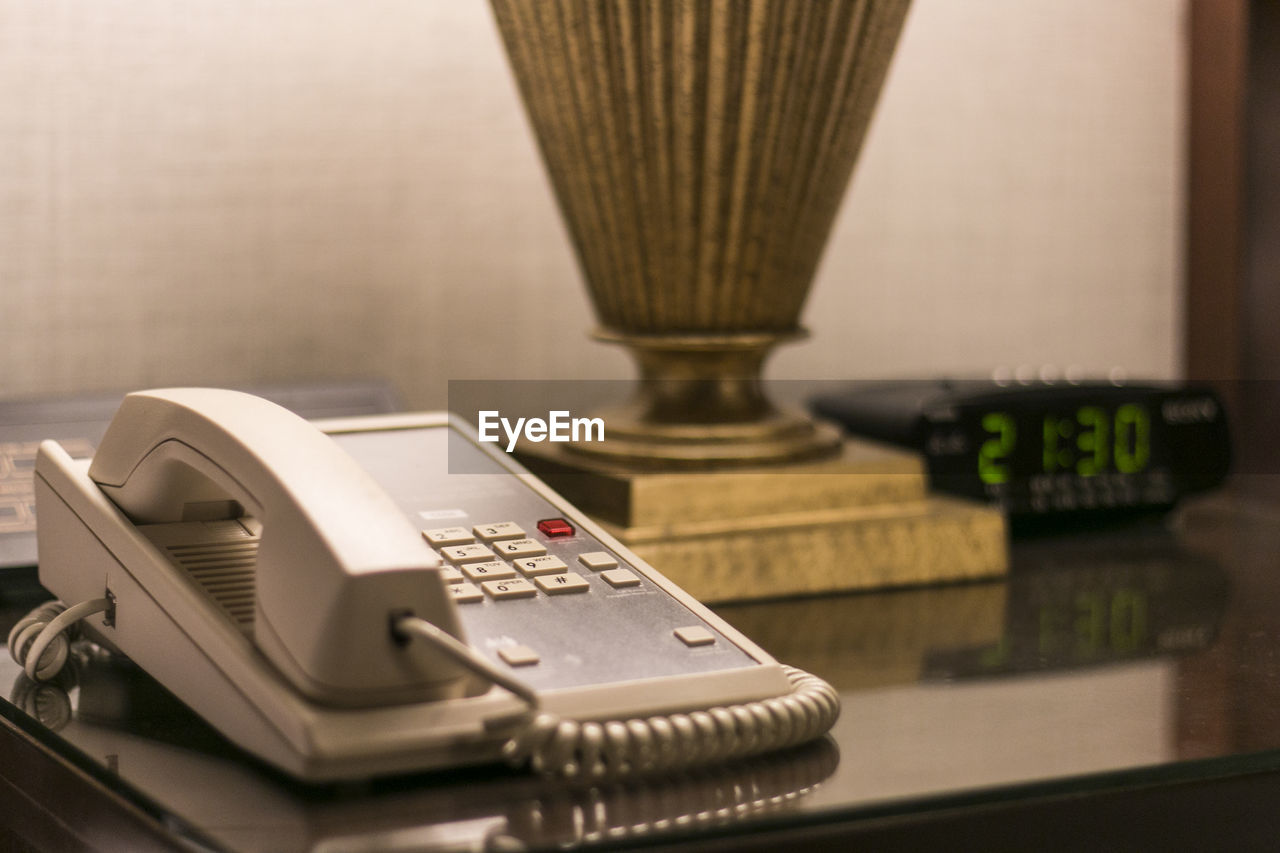
<path fill-rule="evenodd" d="M 324 430 L 187 388 L 129 394 L 92 464 L 46 442 L 40 578 L 79 603 L 10 635 L 27 671 L 56 669 L 83 619 L 232 740 L 314 780 L 502 752 L 605 776 L 833 722 L 828 685 L 447 416 Z"/>

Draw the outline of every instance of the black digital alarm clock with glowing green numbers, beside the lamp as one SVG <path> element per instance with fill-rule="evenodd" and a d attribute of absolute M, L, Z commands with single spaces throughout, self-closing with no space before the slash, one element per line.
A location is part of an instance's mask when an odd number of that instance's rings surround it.
<path fill-rule="evenodd" d="M 1222 403 L 1204 388 L 881 382 L 812 406 L 923 453 L 932 488 L 1011 516 L 1169 508 L 1220 484 L 1231 457 Z"/>

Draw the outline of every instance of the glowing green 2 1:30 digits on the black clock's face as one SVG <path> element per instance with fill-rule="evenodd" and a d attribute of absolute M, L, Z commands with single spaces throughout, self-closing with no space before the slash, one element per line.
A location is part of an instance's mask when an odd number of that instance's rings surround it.
<path fill-rule="evenodd" d="M 1038 418 L 1038 429 L 1028 430 L 1029 424 L 1019 429 L 1019 419 L 1012 412 L 982 414 L 979 423 L 984 438 L 978 447 L 978 478 L 983 483 L 1007 483 L 1015 470 L 1097 476 L 1140 474 L 1151 465 L 1151 411 L 1147 406 L 1135 402 L 1114 407 L 1080 406 Z"/>

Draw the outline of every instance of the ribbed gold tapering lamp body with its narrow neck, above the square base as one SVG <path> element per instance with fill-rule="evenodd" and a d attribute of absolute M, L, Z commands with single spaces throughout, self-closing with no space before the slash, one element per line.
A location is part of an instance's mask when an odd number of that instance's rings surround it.
<path fill-rule="evenodd" d="M 909 0 L 492 3 L 602 337 L 649 380 L 758 379 L 803 334 Z M 641 405 L 631 428 L 769 420 L 760 403 Z"/>

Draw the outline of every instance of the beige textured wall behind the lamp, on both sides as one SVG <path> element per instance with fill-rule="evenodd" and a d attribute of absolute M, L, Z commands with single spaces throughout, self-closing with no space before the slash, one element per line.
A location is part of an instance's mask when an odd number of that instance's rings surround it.
<path fill-rule="evenodd" d="M 1176 371 L 1185 0 L 916 0 L 774 375 Z M 485 4 L 0 0 L 0 397 L 626 375 Z"/>

